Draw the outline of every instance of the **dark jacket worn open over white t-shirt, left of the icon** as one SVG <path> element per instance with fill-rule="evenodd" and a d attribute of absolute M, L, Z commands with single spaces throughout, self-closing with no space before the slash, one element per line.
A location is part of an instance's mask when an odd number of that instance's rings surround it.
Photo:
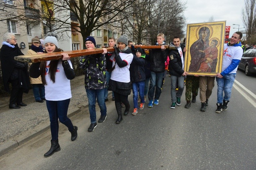
<path fill-rule="evenodd" d="M 182 53 L 183 53 L 183 60 L 185 59 L 184 55 L 184 47 L 181 43 L 181 49 L 182 49 Z M 170 57 L 170 61 L 169 61 L 169 73 L 170 75 L 173 76 L 181 76 L 184 73 L 184 70 L 182 69 L 182 60 L 181 60 L 181 56 L 180 53 L 178 51 L 178 48 L 171 44 L 169 47 L 169 57 Z"/>

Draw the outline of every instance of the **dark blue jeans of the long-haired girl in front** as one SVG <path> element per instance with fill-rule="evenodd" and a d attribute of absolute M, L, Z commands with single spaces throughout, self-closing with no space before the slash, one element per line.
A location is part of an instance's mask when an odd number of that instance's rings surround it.
<path fill-rule="evenodd" d="M 69 102 L 70 102 L 70 99 L 61 100 L 61 101 L 46 100 L 46 106 L 50 116 L 52 140 L 58 139 L 58 134 L 59 134 L 58 119 L 62 124 L 68 127 L 68 130 L 70 132 L 74 130 L 74 126 L 71 120 L 67 117 Z"/>

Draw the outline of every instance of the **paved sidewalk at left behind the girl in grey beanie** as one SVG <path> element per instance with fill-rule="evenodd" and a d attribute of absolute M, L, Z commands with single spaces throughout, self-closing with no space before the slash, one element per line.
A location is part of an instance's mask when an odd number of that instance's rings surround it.
<path fill-rule="evenodd" d="M 71 80 L 71 93 L 68 117 L 88 105 L 84 75 Z M 0 156 L 50 128 L 45 101 L 36 102 L 33 90 L 30 89 L 28 94 L 23 94 L 23 102 L 27 106 L 9 109 L 9 97 L 0 98 Z"/>

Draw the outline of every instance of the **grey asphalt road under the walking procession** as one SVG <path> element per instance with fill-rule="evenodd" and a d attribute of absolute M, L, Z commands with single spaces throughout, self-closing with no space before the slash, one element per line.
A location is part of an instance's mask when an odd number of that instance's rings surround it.
<path fill-rule="evenodd" d="M 217 84 L 206 112 L 200 112 L 199 95 L 190 109 L 171 109 L 167 75 L 159 104 L 123 116 L 115 124 L 113 101 L 106 102 L 108 116 L 93 132 L 88 108 L 71 117 L 78 126 L 72 142 L 60 125 L 61 151 L 44 158 L 50 148 L 50 130 L 0 157 L 0 169 L 256 169 L 256 98 L 235 83 L 226 111 L 215 113 Z M 255 77 L 236 80 L 255 93 Z M 249 82 L 247 80 L 250 80 Z M 254 86 L 250 88 L 251 84 Z M 255 94 L 254 94 L 255 95 Z M 251 102 L 248 102 L 248 97 Z M 129 96 L 130 104 L 132 95 Z M 123 108 L 124 111 L 124 108 Z M 97 116 L 100 112 L 97 107 Z M 97 118 L 97 119 L 98 119 Z"/>

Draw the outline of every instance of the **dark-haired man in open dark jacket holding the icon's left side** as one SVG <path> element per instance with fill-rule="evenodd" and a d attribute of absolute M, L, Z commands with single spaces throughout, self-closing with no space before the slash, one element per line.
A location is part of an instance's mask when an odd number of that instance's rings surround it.
<path fill-rule="evenodd" d="M 170 53 L 170 75 L 171 75 L 171 97 L 172 105 L 174 109 L 176 104 L 181 105 L 181 95 L 184 89 L 184 80 L 187 72 L 184 71 L 184 52 L 186 48 L 183 48 L 180 42 L 180 37 L 174 37 L 173 42 L 169 47 Z M 176 93 L 177 80 L 179 90 Z"/>

